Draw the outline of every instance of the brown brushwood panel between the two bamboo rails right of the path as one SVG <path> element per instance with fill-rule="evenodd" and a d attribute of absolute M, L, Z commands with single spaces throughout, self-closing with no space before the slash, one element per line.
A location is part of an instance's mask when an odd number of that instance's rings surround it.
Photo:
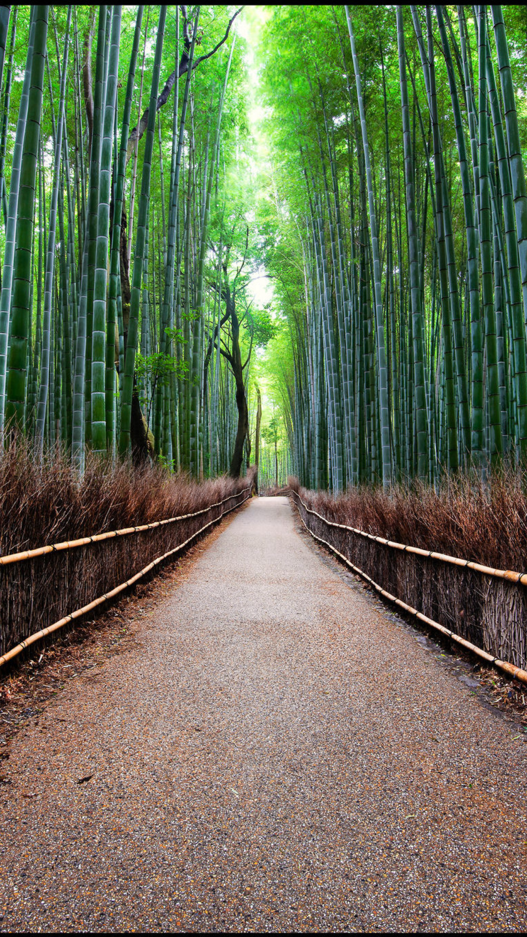
<path fill-rule="evenodd" d="M 331 527 L 292 495 L 306 527 L 377 585 L 492 656 L 526 669 L 526 586 Z"/>

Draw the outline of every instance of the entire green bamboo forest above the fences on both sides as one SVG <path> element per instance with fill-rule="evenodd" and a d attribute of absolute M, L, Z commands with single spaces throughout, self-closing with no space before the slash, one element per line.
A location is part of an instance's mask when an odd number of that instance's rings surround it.
<path fill-rule="evenodd" d="M 0 7 L 0 431 L 338 493 L 527 452 L 523 7 Z"/>

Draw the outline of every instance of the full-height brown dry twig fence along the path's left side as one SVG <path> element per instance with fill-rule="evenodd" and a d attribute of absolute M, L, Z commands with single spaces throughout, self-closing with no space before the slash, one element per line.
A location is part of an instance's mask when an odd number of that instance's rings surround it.
<path fill-rule="evenodd" d="M 100 459 L 88 463 L 81 479 L 60 454 L 38 464 L 17 441 L 0 458 L 0 558 L 181 519 L 18 562 L 0 561 L 0 656 L 218 520 L 248 497 L 251 482 L 222 477 L 199 484 L 162 468 L 112 466 Z"/>

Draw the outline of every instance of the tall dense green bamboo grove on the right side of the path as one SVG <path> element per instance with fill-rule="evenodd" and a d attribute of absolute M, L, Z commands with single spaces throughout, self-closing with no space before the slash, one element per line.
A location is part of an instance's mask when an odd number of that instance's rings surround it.
<path fill-rule="evenodd" d="M 276 7 L 264 34 L 268 254 L 311 488 L 527 452 L 525 15 Z"/>

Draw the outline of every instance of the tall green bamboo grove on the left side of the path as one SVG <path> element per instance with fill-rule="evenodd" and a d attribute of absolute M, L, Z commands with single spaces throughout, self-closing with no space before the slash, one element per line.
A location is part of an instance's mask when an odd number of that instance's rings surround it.
<path fill-rule="evenodd" d="M 81 471 L 91 450 L 240 474 L 255 317 L 225 192 L 238 14 L 0 7 L 6 446 L 22 432 Z"/>

